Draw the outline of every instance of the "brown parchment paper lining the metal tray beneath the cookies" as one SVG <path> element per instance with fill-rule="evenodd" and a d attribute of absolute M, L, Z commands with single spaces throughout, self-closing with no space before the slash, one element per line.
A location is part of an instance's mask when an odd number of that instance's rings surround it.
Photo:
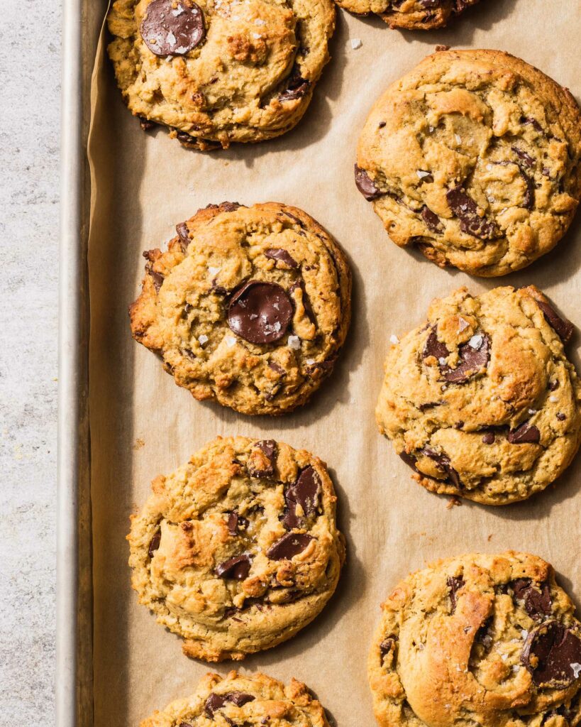
<path fill-rule="evenodd" d="M 348 558 L 333 600 L 296 638 L 248 657 L 240 670 L 304 680 L 341 727 L 372 725 L 365 662 L 379 603 L 408 571 L 473 550 L 529 550 L 547 558 L 581 596 L 581 458 L 556 486 L 503 508 L 429 494 L 375 427 L 373 409 L 391 334 L 423 320 L 432 297 L 534 283 L 581 326 L 580 217 L 556 251 L 527 270 L 478 280 L 440 270 L 397 248 L 357 192 L 359 130 L 383 89 L 436 44 L 504 49 L 572 89 L 579 99 L 578 0 L 482 0 L 450 29 L 390 31 L 380 20 L 338 12 L 325 69 L 301 124 L 278 140 L 201 154 L 163 131 L 144 134 L 126 110 L 103 57 L 94 76 L 89 239 L 94 577 L 94 724 L 137 725 L 192 691 L 208 670 L 232 664 L 187 659 L 181 640 L 138 606 L 125 535 L 150 480 L 187 461 L 216 435 L 277 438 L 330 466 Z M 94 13 L 103 13 L 97 3 Z M 351 39 L 362 46 L 352 49 Z M 558 41 L 558 42 L 556 42 Z M 346 250 L 354 272 L 353 323 L 336 371 L 303 409 L 280 419 L 244 417 L 198 403 L 158 359 L 131 340 L 127 306 L 142 278 L 142 251 L 174 235 L 176 222 L 224 200 L 302 207 Z M 569 353 L 579 368 L 580 336 Z"/>

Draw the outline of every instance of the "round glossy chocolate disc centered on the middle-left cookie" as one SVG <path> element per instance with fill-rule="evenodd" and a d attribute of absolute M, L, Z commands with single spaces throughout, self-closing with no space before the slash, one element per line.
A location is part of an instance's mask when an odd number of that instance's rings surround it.
<path fill-rule="evenodd" d="M 251 343 L 275 343 L 287 332 L 293 317 L 290 297 L 280 285 L 251 280 L 232 297 L 228 325 Z"/>

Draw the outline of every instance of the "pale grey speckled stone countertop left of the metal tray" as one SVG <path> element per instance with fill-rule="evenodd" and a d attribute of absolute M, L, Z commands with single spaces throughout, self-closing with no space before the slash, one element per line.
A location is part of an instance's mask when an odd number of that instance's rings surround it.
<path fill-rule="evenodd" d="M 61 0 L 0 13 L 0 724 L 54 725 Z"/>

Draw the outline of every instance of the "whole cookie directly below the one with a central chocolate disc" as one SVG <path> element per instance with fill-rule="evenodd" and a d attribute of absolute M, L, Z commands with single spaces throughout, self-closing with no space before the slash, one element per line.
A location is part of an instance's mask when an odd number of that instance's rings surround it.
<path fill-rule="evenodd" d="M 217 438 L 132 518 L 139 602 L 208 662 L 244 659 L 320 613 L 345 558 L 324 462 L 274 440 Z"/>

